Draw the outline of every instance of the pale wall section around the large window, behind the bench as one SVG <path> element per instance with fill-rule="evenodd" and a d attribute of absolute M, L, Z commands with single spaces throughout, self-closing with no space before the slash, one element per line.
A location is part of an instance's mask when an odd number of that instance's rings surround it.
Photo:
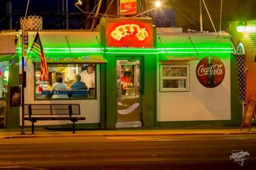
<path fill-rule="evenodd" d="M 79 120 L 78 124 L 81 123 L 100 123 L 100 74 L 99 65 L 97 65 L 97 99 L 92 100 L 34 100 L 34 65 L 28 62 L 26 66 L 27 70 L 27 87 L 25 88 L 25 104 L 80 104 L 81 117 L 86 117 L 86 120 Z M 21 71 L 20 71 L 21 72 Z M 49 115 L 48 115 L 49 116 Z M 56 116 L 56 115 L 55 115 Z M 62 115 L 63 116 L 63 115 Z M 22 117 L 22 110 L 20 107 L 20 117 Z M 54 121 L 38 121 L 35 125 L 61 125 L 71 124 L 71 121 L 65 120 L 54 120 Z M 22 120 L 20 118 L 20 125 Z M 25 121 L 25 125 L 31 125 L 29 121 Z"/>

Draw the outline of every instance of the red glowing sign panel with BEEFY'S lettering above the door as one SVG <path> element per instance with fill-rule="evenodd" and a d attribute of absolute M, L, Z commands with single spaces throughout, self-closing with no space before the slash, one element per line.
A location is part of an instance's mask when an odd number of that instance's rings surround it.
<path fill-rule="evenodd" d="M 153 26 L 151 22 L 126 20 L 108 22 L 106 28 L 108 47 L 153 47 Z"/>

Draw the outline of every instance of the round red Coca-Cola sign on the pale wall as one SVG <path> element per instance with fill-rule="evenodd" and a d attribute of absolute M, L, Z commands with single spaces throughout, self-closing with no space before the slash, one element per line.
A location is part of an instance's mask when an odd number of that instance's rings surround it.
<path fill-rule="evenodd" d="M 225 77 L 225 66 L 214 56 L 202 58 L 197 64 L 197 79 L 208 88 L 217 87 Z"/>

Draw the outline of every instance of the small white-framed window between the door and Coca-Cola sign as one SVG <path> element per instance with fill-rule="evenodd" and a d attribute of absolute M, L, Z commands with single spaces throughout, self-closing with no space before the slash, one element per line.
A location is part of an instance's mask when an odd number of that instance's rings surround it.
<path fill-rule="evenodd" d="M 189 91 L 189 65 L 160 65 L 160 91 Z"/>

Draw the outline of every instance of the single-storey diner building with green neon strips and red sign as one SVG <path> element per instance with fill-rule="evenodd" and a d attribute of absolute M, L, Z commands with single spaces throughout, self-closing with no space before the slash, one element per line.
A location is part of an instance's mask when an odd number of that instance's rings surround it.
<path fill-rule="evenodd" d="M 36 35 L 37 31 L 29 31 L 25 104 L 80 104 L 80 116 L 86 120 L 79 121 L 78 128 L 241 123 L 237 62 L 227 33 L 156 28 L 150 18 L 101 18 L 93 32 L 40 30 L 48 81 L 40 81 L 40 57 L 30 50 Z M 21 107 L 11 100 L 22 72 L 21 38 L 21 31 L 0 33 L 0 95 L 6 128 L 22 124 Z M 77 78 L 86 85 L 82 93 L 75 92 Z M 66 88 L 54 91 L 56 81 Z M 35 125 L 70 124 L 55 120 Z"/>

